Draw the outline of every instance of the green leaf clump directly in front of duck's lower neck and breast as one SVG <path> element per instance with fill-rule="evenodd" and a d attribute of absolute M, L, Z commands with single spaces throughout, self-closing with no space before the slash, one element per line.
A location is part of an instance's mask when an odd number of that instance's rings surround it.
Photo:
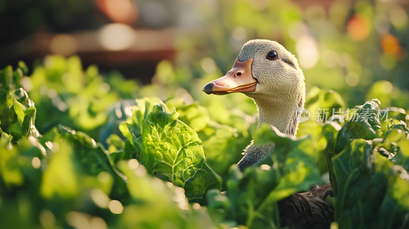
<path fill-rule="evenodd" d="M 280 228 L 277 202 L 309 190 L 313 184 L 323 184 L 316 166 L 322 143 L 311 137 L 296 139 L 275 127 L 262 125 L 255 132 L 254 144 L 271 143 L 275 148 L 259 167 L 241 172 L 232 166 L 227 181 L 228 200 L 217 192 L 210 193 L 211 212 L 223 210 L 226 219 L 248 228 Z"/>

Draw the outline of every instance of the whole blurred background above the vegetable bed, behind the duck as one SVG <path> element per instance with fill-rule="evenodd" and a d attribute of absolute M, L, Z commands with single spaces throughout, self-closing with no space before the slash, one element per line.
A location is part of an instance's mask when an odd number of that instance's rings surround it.
<path fill-rule="evenodd" d="M 349 107 L 376 97 L 382 107 L 406 108 L 408 10 L 409 2 L 392 0 L 2 1 L 0 66 L 78 55 L 85 66 L 175 83 L 197 99 L 245 41 L 263 38 L 297 56 L 307 91 L 333 89 Z M 161 78 L 158 63 L 172 74 Z"/>

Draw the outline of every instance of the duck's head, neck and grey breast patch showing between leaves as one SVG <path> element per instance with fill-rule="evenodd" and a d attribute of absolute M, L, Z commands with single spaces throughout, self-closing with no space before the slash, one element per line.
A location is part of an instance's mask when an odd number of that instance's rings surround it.
<path fill-rule="evenodd" d="M 296 57 L 276 41 L 246 42 L 232 70 L 202 90 L 216 95 L 243 93 L 257 105 L 259 126 L 267 123 L 283 133 L 297 133 L 297 115 L 305 100 L 304 74 Z M 271 149 L 271 145 L 254 147 L 250 144 L 239 167 L 256 164 Z"/>

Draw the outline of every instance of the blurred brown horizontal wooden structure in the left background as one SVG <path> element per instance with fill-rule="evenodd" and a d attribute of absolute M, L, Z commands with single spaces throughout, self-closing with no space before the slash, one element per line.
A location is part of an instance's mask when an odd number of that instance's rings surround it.
<path fill-rule="evenodd" d="M 138 78 L 142 83 L 149 83 L 158 62 L 174 59 L 177 32 L 175 29 L 136 30 L 131 27 L 128 32 L 130 34 L 123 34 L 125 37 L 130 36 L 126 40 L 126 46 L 117 45 L 111 49 L 112 47 L 104 47 L 101 30 L 70 34 L 39 31 L 29 38 L 0 47 L 0 53 L 7 54 L 0 55 L 0 65 L 10 64 L 12 59 L 12 63 L 22 60 L 32 66 L 36 59 L 45 55 L 78 55 L 84 66 L 97 64 L 103 72 L 118 70 L 126 78 Z M 115 37 L 113 34 L 111 42 L 123 42 L 121 36 L 119 34 L 119 37 Z M 2 59 L 3 57 L 7 59 Z"/>

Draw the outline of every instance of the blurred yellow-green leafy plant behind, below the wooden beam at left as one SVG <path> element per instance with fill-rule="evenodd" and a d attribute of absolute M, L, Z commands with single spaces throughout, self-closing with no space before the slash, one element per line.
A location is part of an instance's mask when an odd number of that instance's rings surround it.
<path fill-rule="evenodd" d="M 97 140 L 107 122 L 106 110 L 120 98 L 137 96 L 130 90 L 138 91 L 137 83 L 124 80 L 118 74 L 110 74 L 105 79 L 95 65 L 84 71 L 81 60 L 75 56 L 46 57 L 44 65 L 37 66 L 24 82 L 23 86 L 30 89 L 30 98 L 36 103 L 41 133 L 62 124 L 85 131 Z"/>

